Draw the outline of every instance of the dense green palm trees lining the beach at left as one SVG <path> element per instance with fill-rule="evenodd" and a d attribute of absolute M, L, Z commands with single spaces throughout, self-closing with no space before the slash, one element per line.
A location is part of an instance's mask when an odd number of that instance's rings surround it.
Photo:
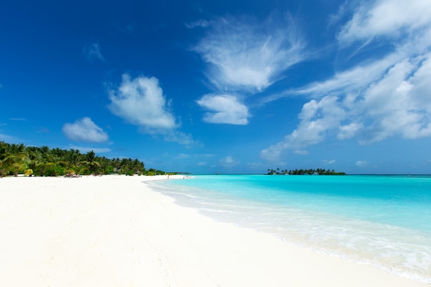
<path fill-rule="evenodd" d="M 66 176 L 134 174 L 155 176 L 166 174 L 156 169 L 145 170 L 145 164 L 132 158 L 105 158 L 94 151 L 81 153 L 77 149 L 25 147 L 0 141 L 0 176 Z"/>

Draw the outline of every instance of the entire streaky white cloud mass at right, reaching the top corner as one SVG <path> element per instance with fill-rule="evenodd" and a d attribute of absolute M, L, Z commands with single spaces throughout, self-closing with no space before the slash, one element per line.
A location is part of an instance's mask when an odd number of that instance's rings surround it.
<path fill-rule="evenodd" d="M 431 89 L 431 3 L 401 2 L 375 1 L 357 8 L 339 32 L 340 48 L 372 45 L 378 36 L 392 47 L 381 59 L 288 91 L 314 99 L 302 108 L 297 128 L 261 151 L 262 158 L 275 160 L 286 149 L 305 149 L 333 134 L 339 140 L 357 137 L 361 144 L 392 136 L 431 136 L 431 97 L 425 96 Z M 386 17 L 377 17 L 382 13 Z"/>

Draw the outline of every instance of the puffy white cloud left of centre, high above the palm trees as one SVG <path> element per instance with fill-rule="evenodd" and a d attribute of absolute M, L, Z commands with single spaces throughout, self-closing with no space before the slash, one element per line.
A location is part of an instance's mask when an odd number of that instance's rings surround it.
<path fill-rule="evenodd" d="M 131 79 L 124 74 L 120 87 L 109 91 L 109 99 L 112 114 L 147 131 L 177 127 L 157 78 Z"/>

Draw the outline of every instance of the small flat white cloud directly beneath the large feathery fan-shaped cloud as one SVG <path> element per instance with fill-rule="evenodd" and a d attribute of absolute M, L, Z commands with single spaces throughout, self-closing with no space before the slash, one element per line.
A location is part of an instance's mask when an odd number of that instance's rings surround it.
<path fill-rule="evenodd" d="M 196 103 L 208 109 L 204 115 L 207 123 L 222 123 L 231 125 L 246 125 L 249 123 L 249 109 L 238 102 L 235 96 L 227 94 L 207 94 L 196 100 Z"/>

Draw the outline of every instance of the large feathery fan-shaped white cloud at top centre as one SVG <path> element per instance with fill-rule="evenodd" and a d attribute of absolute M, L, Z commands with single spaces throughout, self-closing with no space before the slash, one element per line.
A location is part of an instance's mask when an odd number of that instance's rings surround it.
<path fill-rule="evenodd" d="M 211 30 L 193 49 L 210 64 L 207 76 L 220 90 L 260 91 L 304 59 L 304 43 L 292 19 L 246 20 L 211 22 Z"/>

